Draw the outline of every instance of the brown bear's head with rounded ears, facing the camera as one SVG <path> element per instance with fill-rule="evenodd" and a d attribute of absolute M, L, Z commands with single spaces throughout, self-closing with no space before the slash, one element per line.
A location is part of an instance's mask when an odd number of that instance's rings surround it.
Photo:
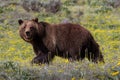
<path fill-rule="evenodd" d="M 32 42 L 44 35 L 45 25 L 43 22 L 38 22 L 38 18 L 32 20 L 18 20 L 19 34 L 21 38 L 27 42 Z"/>

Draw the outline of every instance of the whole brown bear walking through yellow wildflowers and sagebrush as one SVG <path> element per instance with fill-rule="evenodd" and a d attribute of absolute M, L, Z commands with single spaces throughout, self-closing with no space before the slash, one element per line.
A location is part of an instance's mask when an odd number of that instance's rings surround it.
<path fill-rule="evenodd" d="M 104 62 L 99 45 L 91 33 L 79 24 L 49 24 L 32 20 L 18 20 L 19 33 L 23 40 L 31 43 L 36 57 L 32 63 L 49 63 L 55 56 L 69 60 Z"/>

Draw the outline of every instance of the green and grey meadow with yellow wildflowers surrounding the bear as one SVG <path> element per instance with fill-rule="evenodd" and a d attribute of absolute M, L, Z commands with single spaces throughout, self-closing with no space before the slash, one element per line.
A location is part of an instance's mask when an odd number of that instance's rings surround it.
<path fill-rule="evenodd" d="M 35 56 L 18 33 L 18 19 L 78 23 L 99 43 L 105 64 Z M 0 80 L 120 80 L 120 0 L 0 0 Z"/>

